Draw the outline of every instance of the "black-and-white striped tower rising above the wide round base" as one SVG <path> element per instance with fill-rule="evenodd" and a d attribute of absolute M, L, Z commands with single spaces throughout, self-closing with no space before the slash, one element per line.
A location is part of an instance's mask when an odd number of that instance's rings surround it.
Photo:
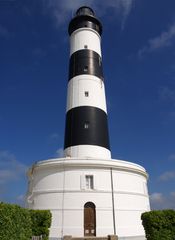
<path fill-rule="evenodd" d="M 70 65 L 65 156 L 110 159 L 101 56 L 102 25 L 89 7 L 69 24 Z"/>

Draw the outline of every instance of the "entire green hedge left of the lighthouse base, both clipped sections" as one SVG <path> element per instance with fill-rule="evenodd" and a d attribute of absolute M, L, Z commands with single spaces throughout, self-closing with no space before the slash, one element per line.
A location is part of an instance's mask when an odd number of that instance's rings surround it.
<path fill-rule="evenodd" d="M 0 240 L 48 239 L 51 225 L 49 210 L 29 210 L 18 205 L 0 203 Z"/>

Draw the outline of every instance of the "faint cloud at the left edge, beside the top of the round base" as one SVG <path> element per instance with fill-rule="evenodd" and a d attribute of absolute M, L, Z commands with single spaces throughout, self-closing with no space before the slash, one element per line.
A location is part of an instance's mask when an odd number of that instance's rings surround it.
<path fill-rule="evenodd" d="M 19 180 L 24 176 L 27 166 L 16 160 L 8 151 L 0 151 L 0 184 Z"/>

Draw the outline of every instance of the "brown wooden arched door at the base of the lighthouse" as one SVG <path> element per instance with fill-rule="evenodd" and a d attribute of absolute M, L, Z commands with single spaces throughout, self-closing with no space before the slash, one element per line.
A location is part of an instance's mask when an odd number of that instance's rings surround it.
<path fill-rule="evenodd" d="M 92 202 L 84 205 L 84 236 L 96 236 L 96 210 Z"/>

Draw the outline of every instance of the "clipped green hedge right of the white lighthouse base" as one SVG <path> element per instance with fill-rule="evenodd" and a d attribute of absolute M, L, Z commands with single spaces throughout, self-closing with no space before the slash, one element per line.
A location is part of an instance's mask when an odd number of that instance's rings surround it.
<path fill-rule="evenodd" d="M 147 240 L 175 240 L 175 210 L 155 210 L 141 216 Z"/>

